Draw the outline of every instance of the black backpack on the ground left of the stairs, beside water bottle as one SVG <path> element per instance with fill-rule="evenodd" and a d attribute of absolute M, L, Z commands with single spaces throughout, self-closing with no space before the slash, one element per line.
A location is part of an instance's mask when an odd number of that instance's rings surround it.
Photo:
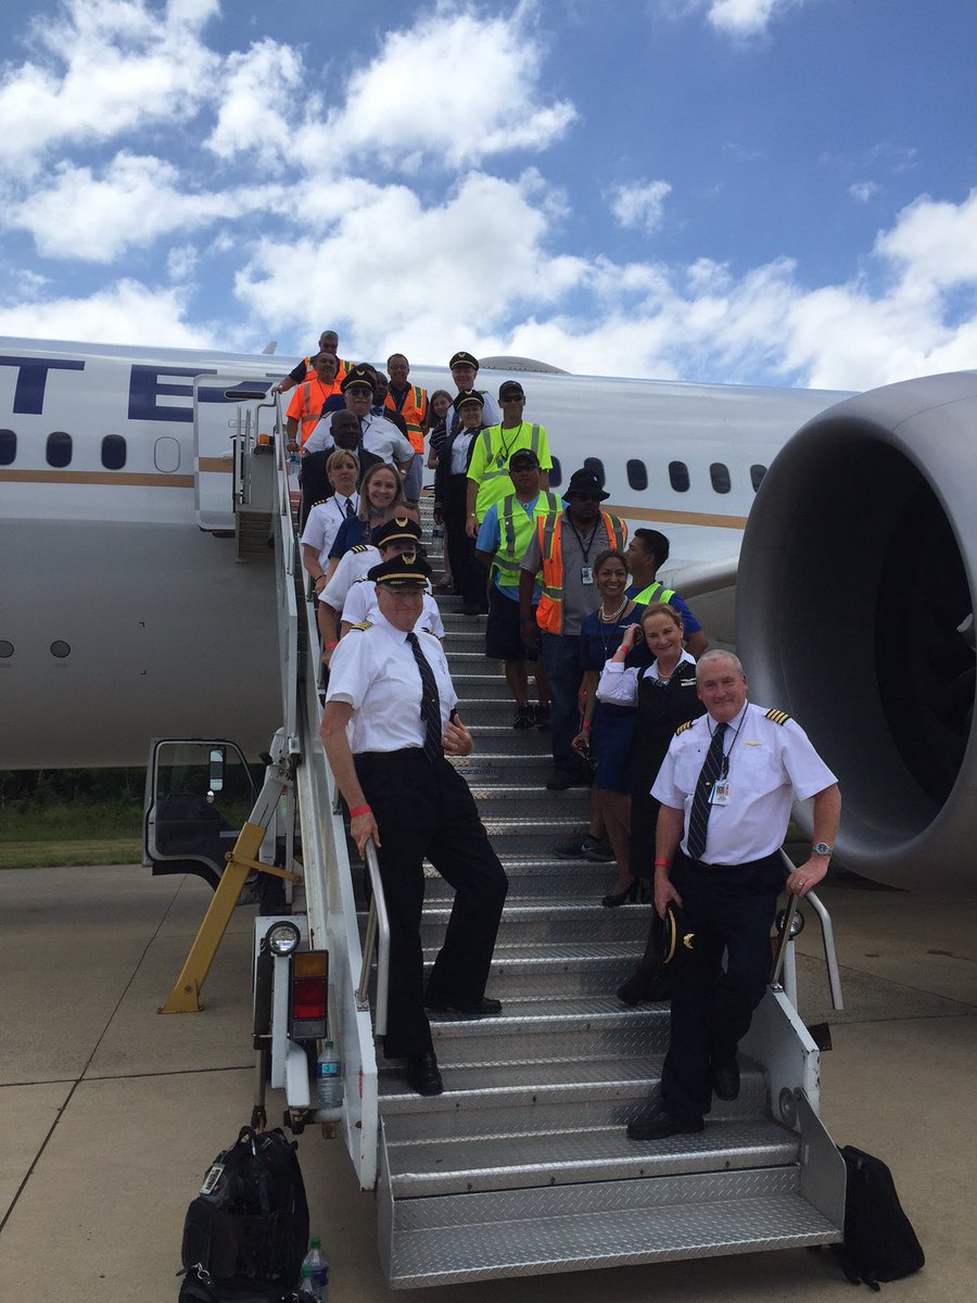
<path fill-rule="evenodd" d="M 280 1128 L 241 1127 L 184 1221 L 180 1303 L 283 1303 L 296 1296 L 309 1243 L 297 1145 Z"/>

